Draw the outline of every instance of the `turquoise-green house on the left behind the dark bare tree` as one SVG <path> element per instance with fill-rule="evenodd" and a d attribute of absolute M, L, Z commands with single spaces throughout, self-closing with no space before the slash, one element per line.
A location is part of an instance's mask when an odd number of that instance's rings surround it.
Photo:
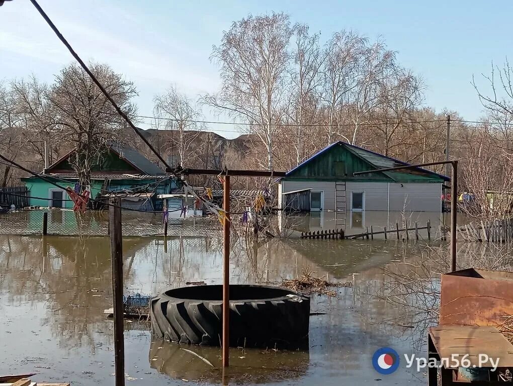
<path fill-rule="evenodd" d="M 46 179 L 63 188 L 74 189 L 78 176 L 69 163 L 70 151 L 43 171 Z M 73 208 L 64 189 L 59 189 L 41 177 L 22 178 L 29 190 L 29 205 L 53 208 Z M 106 201 L 122 195 L 122 207 L 144 211 L 162 209 L 157 195 L 168 194 L 176 181 L 137 150 L 111 144 L 91 168 L 91 197 Z M 94 205 L 96 207 L 96 205 Z"/>

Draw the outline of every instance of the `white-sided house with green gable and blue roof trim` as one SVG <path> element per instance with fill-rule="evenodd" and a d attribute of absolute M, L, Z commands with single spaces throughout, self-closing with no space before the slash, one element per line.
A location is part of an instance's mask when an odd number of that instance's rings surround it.
<path fill-rule="evenodd" d="M 425 170 L 353 173 L 408 165 L 338 141 L 287 172 L 278 187 L 280 208 L 289 211 L 440 212 L 449 178 Z"/>

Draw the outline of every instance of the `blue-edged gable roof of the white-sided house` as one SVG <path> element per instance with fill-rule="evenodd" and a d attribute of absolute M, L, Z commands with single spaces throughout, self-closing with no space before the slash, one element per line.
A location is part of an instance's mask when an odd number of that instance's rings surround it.
<path fill-rule="evenodd" d="M 334 148 L 336 146 L 343 146 L 349 152 L 351 152 L 352 154 L 354 154 L 358 158 L 364 160 L 365 162 L 367 162 L 367 164 L 369 164 L 370 166 L 372 166 L 372 167 L 374 167 L 376 169 L 393 168 L 393 167 L 401 166 L 401 165 L 404 165 L 404 166 L 410 166 L 411 165 L 411 164 L 408 164 L 407 162 L 401 161 L 401 160 L 396 159 L 396 158 L 388 157 L 388 156 L 385 156 L 383 154 L 379 154 L 379 153 L 373 152 L 371 150 L 367 150 L 367 149 L 361 148 L 359 146 L 350 145 L 350 144 L 345 143 L 343 141 L 337 141 L 337 142 L 332 143 L 331 145 L 326 146 L 324 149 L 322 149 L 319 152 L 315 153 L 310 158 L 308 158 L 305 161 L 301 162 L 301 164 L 299 164 L 297 167 L 289 170 L 285 174 L 284 178 L 287 178 L 287 176 L 291 175 L 293 172 L 295 172 L 298 169 L 300 169 L 300 168 L 304 167 L 305 165 L 309 164 L 313 159 L 321 156 L 322 154 L 325 154 L 326 152 L 328 152 L 329 150 L 331 150 L 332 148 Z M 430 175 L 430 176 L 438 177 L 438 178 L 440 178 L 440 179 L 442 179 L 444 181 L 449 181 L 450 180 L 450 178 L 445 176 L 445 175 L 433 172 L 431 170 L 423 169 L 423 168 L 420 168 L 420 167 L 417 167 L 417 168 L 411 169 L 411 170 L 415 170 L 415 171 L 420 172 L 420 173 L 425 174 L 425 175 Z M 397 176 L 397 175 L 400 175 L 400 174 L 407 174 L 406 171 L 401 171 L 401 170 L 391 171 L 391 172 L 382 172 L 382 173 L 385 174 L 387 177 L 391 178 L 392 180 L 396 179 L 396 178 L 394 178 L 394 176 Z"/>

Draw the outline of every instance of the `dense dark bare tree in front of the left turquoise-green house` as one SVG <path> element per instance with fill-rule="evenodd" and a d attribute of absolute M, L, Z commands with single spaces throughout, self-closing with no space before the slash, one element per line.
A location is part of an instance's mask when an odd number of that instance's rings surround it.
<path fill-rule="evenodd" d="M 133 83 L 107 65 L 91 64 L 90 69 L 117 105 L 135 118 Z M 81 67 L 72 64 L 55 78 L 48 92 L 54 114 L 52 130 L 74 149 L 70 164 L 80 184 L 88 186 L 93 165 L 100 162 L 111 143 L 124 141 L 126 123 Z"/>

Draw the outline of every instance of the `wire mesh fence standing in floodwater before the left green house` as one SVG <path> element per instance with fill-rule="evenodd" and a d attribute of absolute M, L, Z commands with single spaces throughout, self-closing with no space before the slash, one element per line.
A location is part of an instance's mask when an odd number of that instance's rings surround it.
<path fill-rule="evenodd" d="M 42 235 L 47 213 L 48 235 L 106 236 L 108 211 L 21 210 L 0 214 L 0 234 Z M 160 213 L 123 211 L 124 236 L 163 236 L 164 221 Z M 221 230 L 215 218 L 169 218 L 168 236 L 210 236 Z"/>

